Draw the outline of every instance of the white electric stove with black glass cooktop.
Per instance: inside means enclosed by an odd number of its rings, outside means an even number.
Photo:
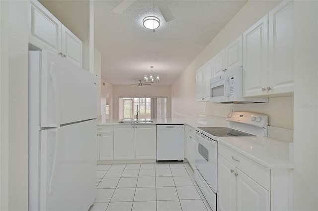
[[[221,136],[267,136],[267,115],[230,112],[229,127],[198,127],[196,130],[194,178],[211,209],[217,208],[218,142]]]

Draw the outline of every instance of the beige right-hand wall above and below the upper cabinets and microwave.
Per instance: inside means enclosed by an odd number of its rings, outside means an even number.
[[[196,102],[196,70],[274,8],[278,1],[248,1],[171,86],[172,117],[225,117],[230,109],[269,115],[269,125],[293,129],[293,97],[270,98],[268,104],[219,105]]]

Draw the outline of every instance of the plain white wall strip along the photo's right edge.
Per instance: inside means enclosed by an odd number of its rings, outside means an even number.
[[[318,210],[318,1],[295,1],[295,211]]]

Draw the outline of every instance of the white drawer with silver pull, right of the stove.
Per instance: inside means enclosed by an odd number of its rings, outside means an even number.
[[[218,142],[218,154],[270,191],[270,169]]]

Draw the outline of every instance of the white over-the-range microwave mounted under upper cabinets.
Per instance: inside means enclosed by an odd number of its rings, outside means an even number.
[[[268,103],[268,97],[243,97],[243,68],[225,71],[210,80],[210,103]]]

